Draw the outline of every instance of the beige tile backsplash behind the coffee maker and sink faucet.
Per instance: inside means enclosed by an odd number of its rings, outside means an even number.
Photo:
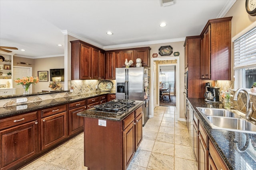
[[[226,81],[226,80],[217,80],[215,82],[215,86],[220,87],[220,92],[223,90],[223,92],[226,92],[228,89],[234,89],[234,81]],[[234,94],[234,91],[231,90],[231,94]],[[246,112],[246,95],[242,92],[238,95],[238,100],[234,101],[233,97],[231,98],[231,101],[234,104],[234,108],[238,109],[242,112]],[[250,102],[252,102],[252,117],[256,118],[256,96],[250,95]]]

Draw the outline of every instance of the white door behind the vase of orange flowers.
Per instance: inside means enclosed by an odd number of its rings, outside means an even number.
[[[32,76],[32,67],[24,67],[24,66],[13,66],[13,80],[17,80],[17,78],[30,77]],[[23,88],[21,85],[17,85],[17,83],[13,82],[13,88],[16,88],[16,94],[22,94]],[[30,93],[32,93],[32,86],[30,86]]]

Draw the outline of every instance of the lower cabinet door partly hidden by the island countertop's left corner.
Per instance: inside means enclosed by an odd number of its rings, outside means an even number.
[[[76,132],[82,131],[84,127],[84,117],[76,115],[77,113],[84,111],[86,106],[71,109],[68,112],[68,135],[72,135]]]

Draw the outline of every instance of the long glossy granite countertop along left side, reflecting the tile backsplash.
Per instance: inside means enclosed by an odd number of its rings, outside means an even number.
[[[12,116],[16,114],[26,113],[28,111],[35,111],[38,109],[43,109],[46,107],[52,107],[60,104],[67,104],[70,102],[76,102],[79,100],[85,100],[88,98],[104,95],[104,94],[115,94],[112,92],[91,92],[91,93],[84,93],[84,94],[78,94],[74,96],[66,96],[62,98],[54,98],[49,100],[41,100],[36,102],[30,102],[30,103],[23,103],[18,105],[11,105],[11,106],[3,106],[0,107],[0,118]]]

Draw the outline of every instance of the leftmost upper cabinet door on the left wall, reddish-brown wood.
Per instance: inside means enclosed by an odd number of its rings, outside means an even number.
[[[92,47],[80,44],[80,79],[92,79]]]

